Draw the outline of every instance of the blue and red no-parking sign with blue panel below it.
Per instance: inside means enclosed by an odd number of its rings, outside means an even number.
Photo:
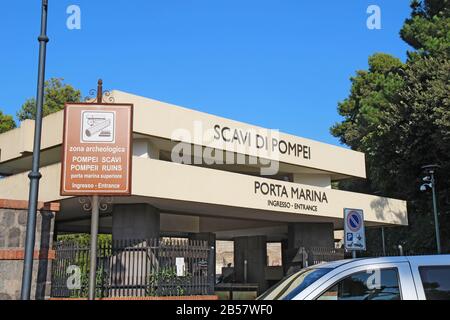
[[[344,209],[345,249],[349,251],[366,250],[364,212],[358,209]]]

